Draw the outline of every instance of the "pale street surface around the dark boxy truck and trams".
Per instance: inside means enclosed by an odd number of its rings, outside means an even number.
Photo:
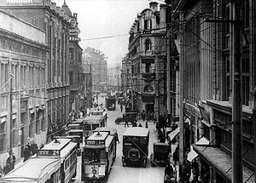
[[[103,103],[105,99],[103,97],[98,98],[98,103]],[[141,167],[123,167],[121,162],[121,156],[122,156],[122,134],[125,132],[125,124],[115,124],[114,120],[116,117],[121,117],[122,113],[120,111],[119,105],[117,105],[115,111],[109,111],[108,112],[108,127],[114,127],[118,130],[119,133],[119,141],[120,143],[117,144],[117,158],[116,161],[113,163],[113,167],[110,171],[108,182],[110,183],[157,183],[157,182],[164,182],[164,168],[161,167],[154,167],[152,168],[150,166],[150,159],[148,157],[148,163],[147,168],[141,168]],[[145,125],[142,123],[143,126]],[[131,127],[131,126],[130,126]],[[148,124],[149,128],[149,156],[152,152],[152,144],[157,141],[156,134],[155,134],[155,128],[153,123]],[[74,182],[81,182],[81,159],[78,158],[78,174],[77,177],[74,179]]]

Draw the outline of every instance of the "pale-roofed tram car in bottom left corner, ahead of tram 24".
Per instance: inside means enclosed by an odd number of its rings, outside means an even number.
[[[0,178],[1,183],[61,183],[61,160],[50,157],[31,157]]]

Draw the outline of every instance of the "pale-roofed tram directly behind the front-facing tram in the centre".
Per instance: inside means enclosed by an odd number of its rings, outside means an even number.
[[[91,114],[88,117],[85,117],[83,121],[83,133],[84,138],[87,139],[92,131],[99,127],[107,127],[107,117],[103,115],[94,115]]]

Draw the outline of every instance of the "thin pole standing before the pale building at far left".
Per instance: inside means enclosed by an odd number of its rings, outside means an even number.
[[[13,167],[13,77],[10,75],[9,81],[9,152],[10,152],[10,166]]]

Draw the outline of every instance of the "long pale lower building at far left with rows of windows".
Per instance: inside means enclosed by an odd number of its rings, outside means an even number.
[[[49,47],[45,31],[2,9],[0,22],[0,166],[3,168],[10,147],[18,160],[23,157],[28,138],[38,146],[46,140]]]

